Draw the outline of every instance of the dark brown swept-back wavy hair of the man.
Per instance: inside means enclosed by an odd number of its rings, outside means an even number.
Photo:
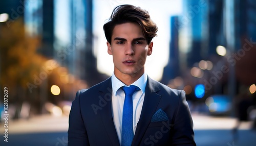
[[[150,14],[146,10],[143,10],[140,7],[135,7],[133,5],[120,5],[113,10],[109,18],[109,22],[105,23],[103,26],[106,40],[110,44],[115,26],[127,22],[134,22],[140,25],[146,38],[147,44],[149,44],[152,39],[157,36],[156,33],[158,28],[156,23],[151,20]]]

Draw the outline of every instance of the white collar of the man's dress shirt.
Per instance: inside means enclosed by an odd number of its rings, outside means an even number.
[[[119,79],[117,79],[114,72],[113,72],[112,77],[111,77],[111,82],[112,82],[112,89],[113,89],[113,92],[114,92],[115,96],[116,96],[117,90],[120,87],[126,86],[123,82],[121,82]],[[142,93],[144,94],[145,93],[146,82],[147,82],[147,75],[144,73],[137,81],[135,81],[131,85],[135,85],[135,86],[139,87],[140,90],[142,91]]]

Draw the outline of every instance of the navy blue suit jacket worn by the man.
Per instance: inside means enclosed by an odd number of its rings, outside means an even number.
[[[76,93],[69,116],[69,146],[120,145],[111,97],[111,78]],[[167,119],[152,121],[159,109],[166,113]],[[170,89],[148,77],[132,145],[196,145],[184,91]]]

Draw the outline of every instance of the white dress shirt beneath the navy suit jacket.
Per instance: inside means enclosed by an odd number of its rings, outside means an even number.
[[[122,83],[116,76],[112,75],[112,115],[114,124],[116,127],[117,136],[119,143],[121,144],[121,135],[122,135],[122,117],[123,117],[123,103],[125,94],[124,91],[120,88],[126,86]],[[137,123],[140,119],[140,114],[142,110],[142,105],[144,102],[145,96],[145,87],[147,82],[147,75],[144,73],[137,81],[131,85],[135,85],[140,88],[133,94],[133,131],[135,133],[137,128]]]

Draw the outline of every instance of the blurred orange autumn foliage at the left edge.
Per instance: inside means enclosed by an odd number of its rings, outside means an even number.
[[[26,35],[22,19],[13,22],[9,28],[0,23],[0,31],[0,83],[26,88],[26,83],[33,80],[33,75],[38,74],[40,66],[46,61],[45,57],[36,53],[40,39]]]

